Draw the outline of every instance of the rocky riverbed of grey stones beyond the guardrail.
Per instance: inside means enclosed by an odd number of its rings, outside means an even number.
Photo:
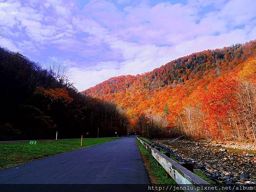
[[[225,148],[227,144],[188,140],[153,140],[183,163],[193,163],[209,179],[226,184],[256,184],[256,151]],[[239,146],[236,144],[236,146]],[[254,145],[248,145],[254,148]]]

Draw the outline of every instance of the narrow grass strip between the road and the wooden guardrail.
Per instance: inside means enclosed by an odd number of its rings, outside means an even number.
[[[157,160],[147,151],[147,149],[136,140],[140,153],[143,158],[143,162],[147,168],[148,174],[153,184],[176,184],[175,180],[166,177],[166,171],[162,166],[157,165]]]

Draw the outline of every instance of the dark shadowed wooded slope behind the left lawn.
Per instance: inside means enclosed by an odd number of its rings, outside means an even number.
[[[86,79],[86,77],[85,77]],[[129,121],[116,105],[83,96],[61,64],[49,70],[0,48],[0,140],[113,137]]]

